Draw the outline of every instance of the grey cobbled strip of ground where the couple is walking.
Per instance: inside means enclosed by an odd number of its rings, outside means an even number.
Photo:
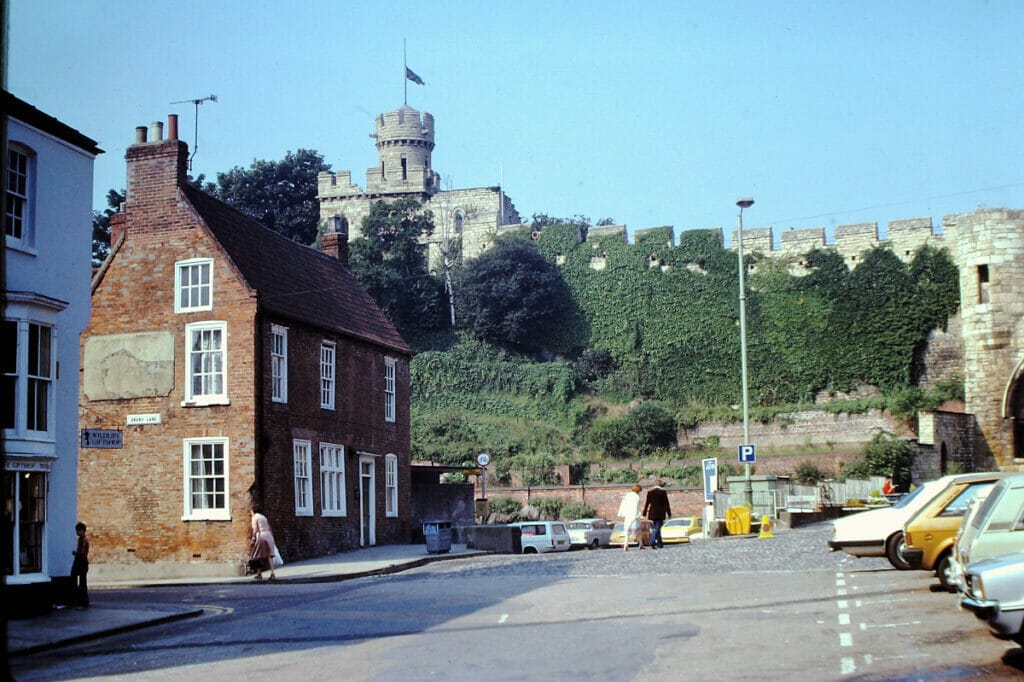
[[[772,538],[757,536],[695,540],[689,545],[628,552],[618,548],[572,550],[550,554],[494,554],[473,559],[438,561],[417,569],[431,578],[489,576],[678,576],[705,573],[773,572],[793,570],[866,570],[891,568],[885,558],[857,558],[829,552],[831,523],[778,530]]]

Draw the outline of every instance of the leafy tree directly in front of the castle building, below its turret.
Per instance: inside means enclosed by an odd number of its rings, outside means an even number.
[[[410,343],[443,325],[444,295],[419,241],[433,231],[433,215],[415,199],[379,202],[350,245],[352,273]]]

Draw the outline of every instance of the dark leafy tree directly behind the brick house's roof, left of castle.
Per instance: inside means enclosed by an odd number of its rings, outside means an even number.
[[[204,190],[227,202],[270,229],[301,244],[312,244],[319,224],[316,175],[330,170],[312,150],[289,152],[281,161],[253,161],[217,173],[217,183]],[[203,177],[194,184],[202,184]]]

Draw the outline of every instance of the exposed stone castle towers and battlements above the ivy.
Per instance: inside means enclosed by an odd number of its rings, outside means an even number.
[[[529,229],[521,224],[503,187],[440,186],[430,164],[434,148],[430,114],[408,105],[381,114],[372,136],[379,164],[367,170],[366,188],[353,184],[350,171],[319,175],[321,220],[329,229],[358,237],[362,217],[374,203],[414,198],[434,213],[437,230],[426,240],[431,263],[476,256],[500,233]],[[635,248],[649,249],[651,242],[644,237],[654,230],[669,236],[669,243],[658,248],[673,246],[671,228],[667,232],[653,228],[635,230]],[[721,228],[717,231],[722,242]],[[624,225],[594,227],[583,236],[588,237],[627,240]],[[733,231],[733,249],[736,238]],[[744,229],[742,238],[744,251],[785,259],[794,274],[802,272],[802,256],[814,249],[833,249],[853,268],[866,250],[877,246],[892,249],[904,261],[925,244],[944,248],[959,268],[961,309],[946,333],[937,331],[933,336],[950,347],[964,377],[974,463],[1024,471],[1024,210],[979,209],[947,215],[940,231],[931,218],[896,220],[889,223],[884,240],[878,223],[839,225],[831,243],[826,243],[820,227],[785,230],[778,240],[770,227]],[[651,267],[658,265],[654,251],[648,260]],[[591,259],[591,267],[601,269],[599,254]],[[922,441],[932,437],[930,429],[923,428],[922,434]],[[943,436],[937,432],[934,437]],[[945,442],[929,444],[946,447]]]

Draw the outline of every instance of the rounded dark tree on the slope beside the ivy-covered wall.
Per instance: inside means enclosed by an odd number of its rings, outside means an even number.
[[[561,273],[517,238],[500,239],[469,261],[456,293],[458,317],[473,336],[524,352],[558,343],[573,309]]]

